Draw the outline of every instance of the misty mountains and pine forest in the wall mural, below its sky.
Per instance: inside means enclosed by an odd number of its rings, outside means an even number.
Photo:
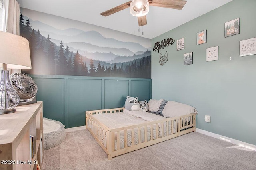
[[[32,69],[24,70],[27,74],[151,78],[151,51],[138,43],[104,38],[96,31],[74,28],[62,30],[66,35],[56,39],[50,34],[42,35],[40,28],[33,29],[31,23],[34,22],[27,17],[24,20],[20,14],[20,35],[30,42]],[[44,29],[60,31],[42,25]]]

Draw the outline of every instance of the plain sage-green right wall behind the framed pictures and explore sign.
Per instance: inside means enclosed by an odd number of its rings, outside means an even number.
[[[176,51],[175,42],[159,53],[152,50],[152,98],[192,105],[197,128],[256,145],[256,55],[239,57],[239,41],[256,37],[255,10],[256,0],[234,0],[152,39],[152,47],[165,38],[185,39],[185,49]],[[224,38],[224,23],[236,18],[240,34]],[[205,29],[207,43],[196,45],[196,33]],[[206,62],[206,48],[214,46],[219,59]],[[161,66],[159,55],[166,51]],[[184,65],[190,52],[193,64]]]

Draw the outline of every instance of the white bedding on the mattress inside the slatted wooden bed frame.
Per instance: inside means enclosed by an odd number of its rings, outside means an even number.
[[[141,123],[147,123],[150,121],[156,121],[156,120],[162,120],[167,119],[166,117],[162,117],[159,115],[155,115],[148,112],[143,111],[128,111],[126,109],[123,110],[123,113],[108,113],[108,114],[98,114],[98,115],[92,115],[97,120],[102,122],[104,125],[106,125],[108,128],[120,128],[125,127],[129,125],[137,125]],[[174,125],[175,125],[174,121]],[[102,142],[102,144],[106,148],[106,131],[92,128],[92,125],[88,125],[90,129],[93,130],[94,134],[97,133],[97,131],[100,133],[99,140]],[[158,125],[158,136],[159,138],[162,137],[162,126]],[[176,128],[173,126],[173,132],[176,133]],[[169,128],[169,134],[171,133],[171,122],[168,123]],[[144,139],[144,127],[141,127],[141,143],[145,141]],[[166,136],[166,123],[164,124],[164,136]],[[116,142],[116,134],[115,134],[115,150],[117,150],[117,142]],[[150,132],[150,126],[147,127],[147,141],[149,141],[151,138],[151,132]],[[156,125],[153,126],[153,139],[156,139]],[[138,128],[134,128],[134,145],[138,144]],[[127,130],[127,146],[132,146],[132,132],[131,130]],[[124,148],[124,131],[120,131],[120,149]]]

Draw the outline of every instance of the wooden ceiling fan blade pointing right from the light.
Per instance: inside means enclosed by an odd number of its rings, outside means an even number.
[[[186,4],[186,2],[186,0],[152,0],[152,2],[149,5],[181,10]]]

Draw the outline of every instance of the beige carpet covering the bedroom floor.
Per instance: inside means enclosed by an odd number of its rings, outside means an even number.
[[[88,130],[44,151],[42,170],[256,170],[256,152],[191,132],[108,160]]]

